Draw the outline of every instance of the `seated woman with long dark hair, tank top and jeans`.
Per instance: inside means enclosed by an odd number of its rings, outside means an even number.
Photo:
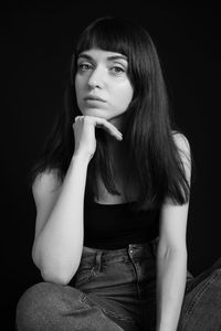
[[[21,297],[18,330],[220,330],[221,263],[187,271],[190,147],[146,30],[87,26],[65,100],[32,172],[44,281]]]

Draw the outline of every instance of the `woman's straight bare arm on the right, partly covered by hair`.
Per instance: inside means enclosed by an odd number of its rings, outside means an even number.
[[[177,135],[183,151],[186,175],[190,182],[189,143]],[[186,232],[189,203],[175,205],[167,199],[161,209],[157,252],[157,331],[176,331],[181,311],[187,276]]]

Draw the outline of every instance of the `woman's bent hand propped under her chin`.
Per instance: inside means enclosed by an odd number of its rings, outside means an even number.
[[[74,154],[86,154],[90,160],[96,150],[95,127],[103,128],[117,140],[122,140],[119,130],[104,118],[95,116],[77,116],[73,124],[75,150]]]

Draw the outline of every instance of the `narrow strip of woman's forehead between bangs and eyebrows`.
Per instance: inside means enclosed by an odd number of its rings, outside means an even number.
[[[91,49],[84,52],[81,52],[77,56],[78,58],[92,58],[92,60],[101,60],[101,61],[114,61],[114,60],[123,60],[127,61],[127,56],[118,52],[110,52],[101,49]]]

